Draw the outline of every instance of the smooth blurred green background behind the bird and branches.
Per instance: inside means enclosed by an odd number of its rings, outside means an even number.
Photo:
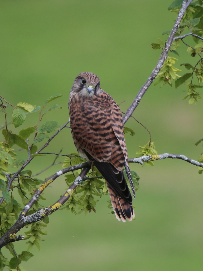
[[[171,2],[1,1],[1,95],[14,105],[42,106],[49,96],[61,93],[64,96],[56,102],[63,109],[50,112],[44,121],[58,120],[63,125],[69,118],[68,96],[75,77],[91,71],[118,104],[125,100],[120,107],[126,111],[161,53],[150,44],[156,43],[157,37],[165,40],[167,36],[161,33],[174,24],[176,14],[167,10]],[[181,49],[182,62],[176,67],[196,61],[190,59],[185,46]],[[159,154],[185,154],[197,160],[202,145],[195,147],[194,143],[203,135],[202,102],[188,105],[182,100],[183,90],[184,85],[178,89],[152,85],[133,115],[150,130]],[[37,120],[37,115],[28,115],[19,130]],[[134,137],[126,134],[129,158],[133,158],[149,135],[134,120],[127,126],[136,133]],[[14,131],[12,125],[9,128]],[[46,151],[59,152],[62,146],[64,154],[76,151],[69,129],[59,133]],[[20,155],[27,157],[25,152]],[[51,155],[38,157],[28,169],[37,173],[53,159]],[[134,200],[136,220],[122,223],[109,215],[108,196],[99,200],[96,213],[86,216],[57,211],[49,217],[41,250],[34,248],[35,256],[21,265],[27,271],[202,270],[202,176],[195,166],[181,160],[155,161],[154,165],[130,165],[140,176]],[[41,179],[60,169],[60,164],[52,167]],[[54,203],[65,189],[61,176],[46,189],[45,206]],[[27,248],[24,241],[15,246],[17,253]]]

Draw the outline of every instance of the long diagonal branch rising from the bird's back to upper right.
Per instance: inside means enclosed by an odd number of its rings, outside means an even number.
[[[149,88],[149,86],[151,85],[151,83],[154,81],[155,77],[157,76],[157,74],[159,73],[159,71],[161,70],[164,61],[167,57],[168,51],[171,47],[171,44],[174,40],[174,36],[176,31],[178,30],[179,24],[182,20],[182,17],[185,14],[185,11],[187,9],[187,7],[189,6],[189,4],[192,2],[193,0],[184,0],[182,2],[182,7],[178,13],[178,17],[175,21],[175,24],[172,28],[171,34],[168,37],[167,43],[165,45],[165,48],[161,54],[161,56],[159,57],[158,63],[156,65],[156,67],[154,68],[153,72],[151,73],[151,75],[149,76],[149,78],[147,79],[147,81],[145,82],[145,84],[141,87],[141,89],[139,90],[137,96],[135,97],[134,101],[132,102],[131,106],[128,108],[127,112],[125,113],[125,115],[123,116],[123,123],[125,124],[125,122],[129,119],[129,117],[132,115],[132,113],[134,112],[135,108],[138,106],[140,100],[142,99],[143,95],[145,94],[145,92],[147,91],[147,89]],[[187,4],[188,2],[188,4]]]

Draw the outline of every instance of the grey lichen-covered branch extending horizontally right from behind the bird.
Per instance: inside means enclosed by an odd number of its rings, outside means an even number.
[[[143,164],[143,162],[148,162],[148,161],[155,161],[155,160],[162,160],[162,159],[166,159],[166,158],[172,158],[172,159],[181,159],[184,160],[190,164],[193,164],[195,166],[198,167],[203,167],[203,163],[199,163],[198,161],[192,160],[188,157],[186,157],[183,154],[169,154],[169,153],[163,153],[163,154],[157,154],[157,155],[148,155],[148,156],[141,156],[138,158],[134,158],[134,159],[129,159],[128,161],[130,163],[139,163],[139,164]]]

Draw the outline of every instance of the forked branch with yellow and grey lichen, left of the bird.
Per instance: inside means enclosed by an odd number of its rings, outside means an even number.
[[[64,195],[61,196],[61,198],[56,201],[54,204],[52,204],[49,207],[43,208],[34,214],[27,215],[26,213],[30,209],[30,207],[35,203],[35,201],[39,198],[39,195],[44,191],[44,189],[54,181],[58,176],[67,173],[72,170],[81,169],[83,168],[80,175],[75,179],[75,181],[72,183],[72,185],[68,188],[68,190],[64,193]],[[4,247],[6,244],[10,242],[15,242],[22,240],[24,236],[22,235],[16,235],[16,233],[25,227],[28,224],[32,224],[34,222],[42,220],[47,215],[52,214],[56,210],[58,210],[68,199],[69,197],[74,193],[75,189],[81,184],[82,180],[85,179],[86,174],[90,170],[91,165],[90,163],[86,162],[83,164],[67,167],[66,169],[60,170],[56,172],[54,175],[52,175],[48,180],[46,180],[35,192],[32,199],[28,202],[28,204],[25,206],[25,208],[22,210],[21,214],[19,215],[18,219],[16,220],[15,224],[0,238],[0,249]]]

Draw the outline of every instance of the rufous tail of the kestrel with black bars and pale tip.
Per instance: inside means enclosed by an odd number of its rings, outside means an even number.
[[[111,199],[111,204],[116,215],[118,221],[125,222],[126,219],[131,221],[133,217],[135,217],[134,210],[132,206],[126,202],[124,199],[119,198],[119,196],[113,191],[113,189],[109,186],[108,182],[106,181],[107,189],[109,192],[109,196]]]

